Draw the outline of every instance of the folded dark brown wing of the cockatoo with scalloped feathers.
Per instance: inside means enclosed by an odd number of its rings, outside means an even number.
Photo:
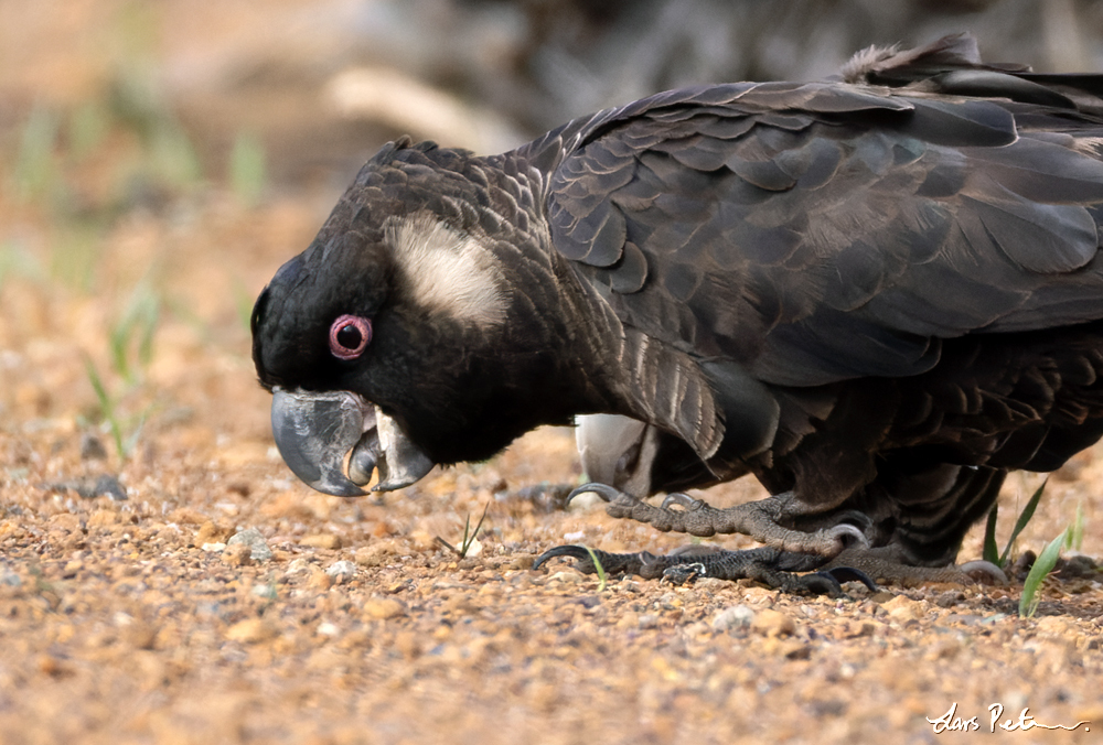
[[[942,95],[932,74],[596,116],[550,177],[553,245],[628,326],[773,385],[915,375],[942,339],[1103,318],[1103,122],[1068,91],[1103,83],[989,71]]]

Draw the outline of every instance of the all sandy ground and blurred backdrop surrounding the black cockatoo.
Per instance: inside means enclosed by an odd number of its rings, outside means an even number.
[[[1062,617],[1038,636],[1016,589],[940,585],[891,626],[750,586],[599,602],[603,580],[522,570],[686,537],[526,492],[581,477],[569,430],[330,497],[279,458],[250,359],[257,293],[387,140],[496,152],[957,31],[989,61],[1103,72],[1089,0],[0,0],[0,742],[934,742],[919,717],[951,701],[1103,719],[1093,581],[1047,585],[1039,615]],[[1052,474],[1018,539],[1043,477],[1007,479],[1009,561],[1070,525],[1103,555],[1101,453]],[[270,559],[224,544],[245,527]],[[788,607],[799,639],[713,630],[745,601]]]

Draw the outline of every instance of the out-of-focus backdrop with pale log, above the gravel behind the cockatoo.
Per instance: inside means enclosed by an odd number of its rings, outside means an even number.
[[[1094,0],[3,0],[6,196],[58,220],[335,195],[400,133],[499,151],[695,83],[811,79],[970,31],[985,58],[1103,66]]]

